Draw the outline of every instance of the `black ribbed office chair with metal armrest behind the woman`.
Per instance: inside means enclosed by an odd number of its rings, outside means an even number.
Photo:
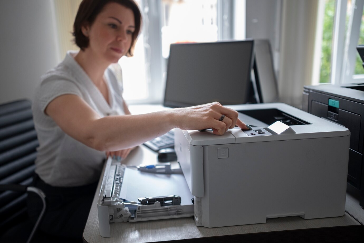
[[[36,193],[43,201],[43,209],[27,242],[32,240],[46,209],[44,193],[30,186],[38,145],[31,102],[23,99],[0,105],[0,236],[29,220],[27,192]],[[20,231],[17,233],[27,232],[24,228]]]

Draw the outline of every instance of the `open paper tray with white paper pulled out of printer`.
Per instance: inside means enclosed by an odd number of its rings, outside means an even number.
[[[141,172],[134,168],[126,168],[124,172],[120,197],[126,202],[115,205],[104,205],[105,188],[110,186],[110,166],[113,160],[109,158],[106,162],[105,172],[100,188],[98,199],[99,229],[102,237],[110,237],[110,220],[114,217],[114,209],[118,208],[120,215],[122,207],[136,210],[134,217],[119,218],[119,222],[137,222],[146,220],[157,220],[177,217],[194,216],[193,198],[186,179],[182,174],[153,174]],[[159,202],[152,205],[141,205],[138,197],[156,197],[179,195],[181,205],[161,206]],[[116,202],[116,201],[114,201]]]

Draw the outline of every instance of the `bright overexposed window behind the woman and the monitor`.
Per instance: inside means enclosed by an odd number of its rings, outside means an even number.
[[[143,15],[142,33],[134,56],[123,57],[124,99],[128,104],[161,103],[166,78],[169,46],[178,42],[214,42],[233,39],[241,26],[233,24],[234,4],[241,0],[136,0]],[[244,1],[245,3],[245,1]],[[244,23],[245,24],[245,23]],[[245,31],[244,28],[240,28]],[[245,36],[235,34],[234,36]]]

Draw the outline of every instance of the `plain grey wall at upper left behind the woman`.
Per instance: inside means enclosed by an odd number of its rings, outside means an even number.
[[[33,98],[40,76],[58,63],[53,1],[0,1],[0,103]]]

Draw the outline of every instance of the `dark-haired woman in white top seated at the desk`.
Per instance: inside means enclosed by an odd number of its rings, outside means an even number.
[[[111,64],[132,56],[140,29],[134,1],[83,0],[74,23],[80,51],[67,52],[42,77],[33,118],[40,143],[34,183],[47,195],[43,231],[82,237],[107,155],[126,157],[173,128],[213,128],[214,134],[235,125],[248,129],[237,111],[219,103],[130,115]],[[29,208],[36,217],[36,199],[29,197]]]

